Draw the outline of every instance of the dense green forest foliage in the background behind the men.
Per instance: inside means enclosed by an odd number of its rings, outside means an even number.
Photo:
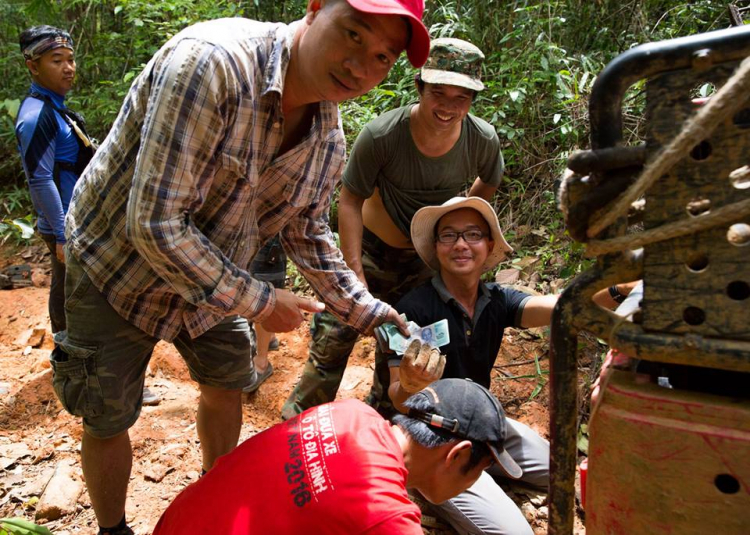
[[[289,22],[305,0],[33,0],[0,3],[0,186],[22,186],[13,118],[28,87],[17,46],[33,24],[67,28],[77,43],[78,80],[69,96],[89,130],[102,139],[133,78],[153,53],[187,25],[245,16]],[[587,100],[597,74],[639,43],[725,27],[716,0],[427,0],[425,23],[434,37],[458,37],[487,57],[472,112],[497,129],[506,160],[495,197],[501,224],[517,251],[542,257],[546,278],[573,275],[586,261],[564,233],[554,201],[555,179],[567,156],[588,142]],[[415,70],[402,58],[369,94],[341,105],[347,141],[374,117],[417,99]],[[625,99],[625,138],[639,139],[642,84]],[[698,95],[713,90],[697,88]],[[335,203],[333,215],[335,216]],[[335,223],[335,217],[332,222]],[[7,224],[7,223],[6,223]],[[515,229],[529,227],[544,236]],[[564,262],[560,265],[559,262]]]

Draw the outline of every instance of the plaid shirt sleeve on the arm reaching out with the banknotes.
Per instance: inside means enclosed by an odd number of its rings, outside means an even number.
[[[290,221],[282,232],[282,241],[300,272],[326,303],[327,310],[354,329],[366,332],[383,321],[390,306],[375,299],[349,269],[328,226],[331,196],[341,176],[344,158],[339,162],[336,169],[331,169],[331,176],[337,179],[326,182],[326,191],[320,195],[322,201]]]

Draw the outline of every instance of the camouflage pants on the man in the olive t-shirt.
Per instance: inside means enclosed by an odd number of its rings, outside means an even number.
[[[415,250],[390,247],[367,229],[362,236],[362,265],[370,293],[391,305],[433,274]],[[328,312],[315,314],[310,334],[310,356],[281,410],[284,419],[336,398],[358,337],[357,331]],[[376,377],[373,389],[379,390],[380,384],[387,384],[387,378]]]

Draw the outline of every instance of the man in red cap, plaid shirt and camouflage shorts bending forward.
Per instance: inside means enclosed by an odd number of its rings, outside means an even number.
[[[135,79],[76,187],[66,222],[67,332],[55,390],[83,418],[100,534],[129,535],[128,429],[154,345],[200,385],[203,469],[237,443],[253,381],[249,322],[294,329],[323,304],[274,290],[250,263],[270,237],[359,331],[399,321],[344,263],[327,224],[344,165],[337,102],[380,83],[402,51],[421,65],[422,0],[309,0],[290,25],[196,24]],[[262,462],[262,459],[260,460]]]

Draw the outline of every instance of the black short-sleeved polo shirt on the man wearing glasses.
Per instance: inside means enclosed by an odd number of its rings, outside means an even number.
[[[505,328],[520,326],[531,296],[496,283],[480,282],[478,292],[473,319],[448,292],[440,275],[410,291],[395,308],[422,327],[447,319],[451,341],[440,348],[446,356],[443,378],[468,378],[489,388]],[[398,355],[389,355],[388,363],[398,366],[400,360]]]

